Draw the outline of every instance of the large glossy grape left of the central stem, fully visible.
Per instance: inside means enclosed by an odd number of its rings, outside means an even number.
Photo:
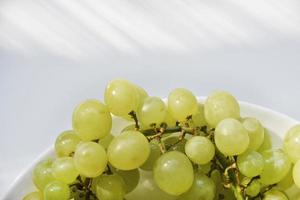
[[[139,131],[123,132],[112,140],[107,149],[109,162],[121,170],[140,167],[149,154],[149,142]]]

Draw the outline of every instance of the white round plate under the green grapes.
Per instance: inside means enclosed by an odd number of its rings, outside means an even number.
[[[292,119],[284,114],[275,112],[273,110],[246,103],[246,102],[240,102],[241,107],[241,115],[242,116],[251,116],[255,117],[258,120],[262,122],[262,124],[270,131],[273,138],[273,144],[274,146],[279,146],[282,143],[282,138],[284,137],[284,134],[286,131],[293,125],[298,124],[299,122],[295,119]],[[116,133],[119,132],[119,130],[128,124],[128,122],[125,122],[124,120],[120,120],[118,118],[113,118],[113,128],[112,132]],[[37,162],[40,160],[43,160],[47,157],[53,157],[54,151],[53,147],[46,150],[44,153],[42,153],[39,158],[33,162],[11,185],[10,190],[8,193],[4,196],[4,200],[17,200],[22,199],[25,194],[27,194],[30,191],[34,191],[34,186],[31,180],[31,172],[33,170],[33,167]],[[299,190],[297,192],[294,192],[295,190],[289,191],[290,199],[296,200],[299,196]]]

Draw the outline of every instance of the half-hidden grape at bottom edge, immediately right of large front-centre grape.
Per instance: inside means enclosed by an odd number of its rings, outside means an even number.
[[[184,194],[180,195],[178,200],[213,200],[215,198],[216,186],[214,181],[204,174],[195,174],[192,187]]]

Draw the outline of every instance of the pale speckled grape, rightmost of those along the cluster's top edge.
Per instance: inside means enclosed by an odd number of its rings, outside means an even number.
[[[205,120],[211,127],[216,127],[226,118],[240,118],[240,106],[229,93],[217,91],[208,96],[204,103]]]

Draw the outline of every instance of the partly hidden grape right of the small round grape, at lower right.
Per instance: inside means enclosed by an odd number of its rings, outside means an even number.
[[[265,165],[260,174],[261,182],[264,185],[280,182],[291,168],[291,162],[286,154],[280,149],[275,149],[262,152],[262,156]]]

